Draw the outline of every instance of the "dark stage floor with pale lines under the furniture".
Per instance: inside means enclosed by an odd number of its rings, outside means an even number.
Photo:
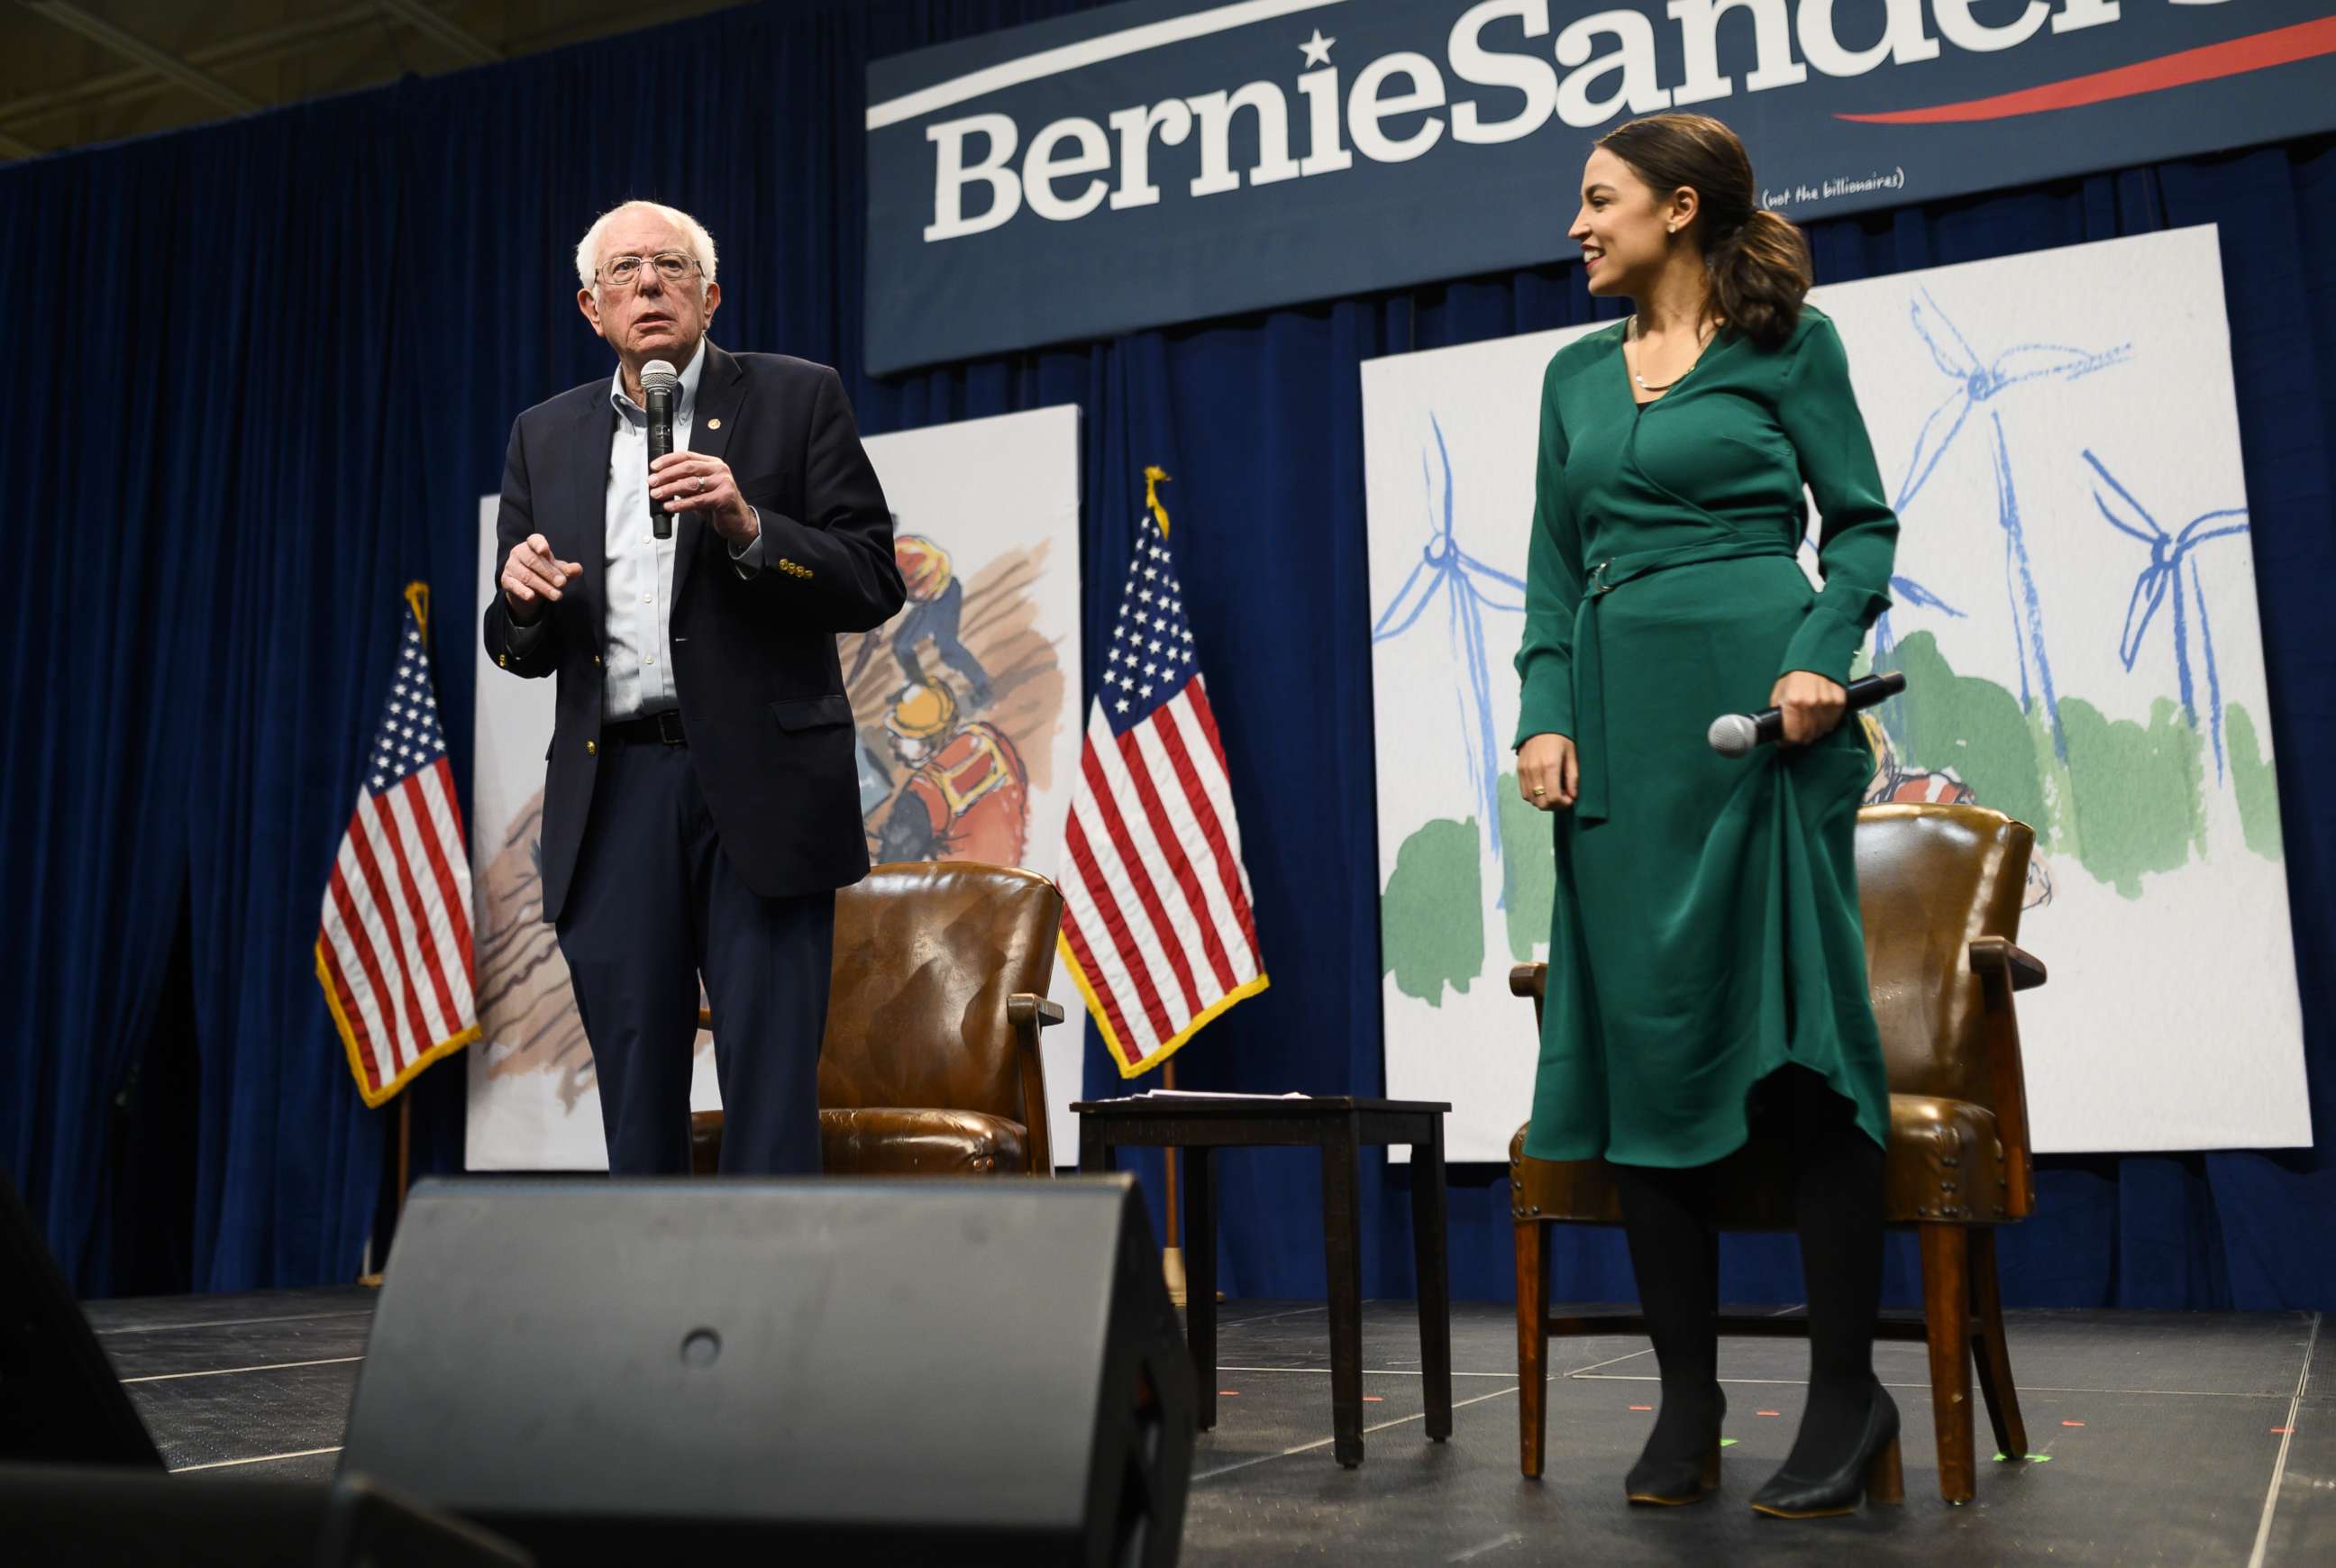
[[[93,1302],[89,1318],[173,1470],[332,1475],[371,1292]],[[1918,1344],[1876,1348],[1906,1416],[1906,1505],[1787,1524],[1747,1507],[1801,1414],[1806,1348],[1731,1339],[1726,1482],[1631,1510],[1652,1418],[1642,1339],[1558,1339],[1549,1475],[1516,1472],[1507,1306],[1453,1313],[1453,1437],[1420,1432],[1409,1302],[1364,1316],[1367,1461],[1329,1456],[1325,1311],[1222,1311],[1217,1430],[1194,1458],[1187,1563],[2336,1563],[2336,1334],[2317,1313],[2011,1313],[2011,1367],[2042,1463],[1983,1463],[1939,1503]],[[1981,1451],[1988,1446],[1979,1416]]]

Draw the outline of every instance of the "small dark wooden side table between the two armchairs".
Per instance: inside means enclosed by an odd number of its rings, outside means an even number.
[[[1079,1171],[1114,1171],[1117,1150],[1180,1147],[1184,1161],[1184,1339],[1201,1383],[1201,1430],[1217,1425],[1217,1150],[1322,1150],[1322,1257],[1329,1269],[1332,1453],[1362,1463],[1364,1145],[1411,1145],[1411,1248],[1420,1281],[1420,1381],[1427,1437],[1453,1430],[1451,1267],[1444,1229],[1444,1112],[1437,1101],[1159,1096],[1082,1101]]]

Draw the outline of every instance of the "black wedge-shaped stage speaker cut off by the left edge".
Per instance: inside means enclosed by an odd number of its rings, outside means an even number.
[[[161,1470],[72,1288],[0,1175],[0,1461]]]

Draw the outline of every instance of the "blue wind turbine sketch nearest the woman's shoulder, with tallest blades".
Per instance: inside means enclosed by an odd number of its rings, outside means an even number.
[[[2004,591],[2011,596],[2011,622],[2016,626],[2014,647],[2021,664],[2021,706],[2035,713],[2042,694],[2044,715],[2051,722],[2053,755],[2067,759],[2067,736],[2060,729],[2060,694],[2053,689],[2051,652],[2044,640],[2044,605],[2037,596],[2035,568],[2028,561],[2028,528],[2021,521],[2018,488],[2011,479],[2011,442],[2004,435],[2002,409],[1995,400],[2014,386],[2028,381],[2077,381],[2095,369],[2121,365],[2133,355],[2133,344],[2086,351],[2067,344],[2014,344],[1993,360],[1983,360],[1969,339],[1955,327],[1930,290],[1920,290],[1906,306],[1916,337],[1930,348],[1932,362],[1955,381],[1923,430],[1913,439],[1906,458],[1906,479],[1899,484],[1894,509],[1899,516],[1923,493],[1939,460],[1953,449],[1955,437],[1972,421],[1972,414],[1988,404],[1986,428],[1995,435],[1995,521],[2004,530]],[[1892,587],[1897,587],[1892,582]]]

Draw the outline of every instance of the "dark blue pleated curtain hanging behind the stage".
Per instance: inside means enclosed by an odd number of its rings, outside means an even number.
[[[350,1091],[318,998],[318,895],[409,577],[437,589],[439,706],[467,788],[477,498],[521,407],[607,374],[575,315],[572,248],[626,196],[684,206],[719,238],[722,344],[843,367],[871,432],[1077,402],[1093,654],[1142,467],[1175,474],[1175,547],[1273,974],[1180,1056],[1182,1082],[1381,1089],[1357,367],[1612,306],[1551,257],[871,383],[857,372],[867,61],[1068,9],[1082,7],[769,5],[0,168],[0,297],[19,311],[0,500],[42,519],[19,523],[7,589],[0,1157],[84,1290],[110,1278],[107,1105],[152,1024],[182,900],[203,1056],[192,1283],[355,1269],[385,1112]],[[1565,164],[1581,152],[1551,143]],[[2320,1143],[2044,1161],[2042,1213],[2004,1239],[2021,1304],[2336,1306],[2317,1241],[2336,1210],[2336,804],[2310,783],[2336,750],[2320,608],[2336,582],[2331,175],[2336,150],[2313,140],[1813,229],[1820,278],[1850,280],[2222,224]],[[1089,689],[1093,675],[1091,661]],[[1514,1038],[1467,1045],[1532,1052],[1528,1012]],[[1096,1049],[1089,1089],[1121,1089]],[[460,1066],[423,1075],[420,1168],[460,1164]],[[1224,1288],[1320,1295],[1310,1161],[1222,1164]],[[1409,1173],[1371,1159],[1364,1182],[1367,1290],[1406,1295]],[[1455,1292],[1507,1297],[1507,1173],[1455,1171],[1451,1203]],[[1558,1269],[1567,1297],[1631,1295],[1619,1236],[1563,1236]],[[1892,1253],[1892,1297],[1913,1299],[1913,1281]],[[1799,1299],[1789,1241],[1731,1241],[1726,1290]]]

